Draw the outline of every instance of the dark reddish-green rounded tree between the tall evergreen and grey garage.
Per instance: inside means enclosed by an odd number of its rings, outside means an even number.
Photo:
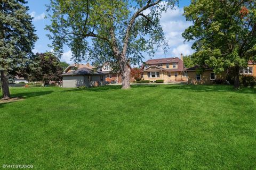
[[[30,71],[30,81],[43,81],[44,85],[49,84],[50,81],[60,81],[63,69],[60,65],[58,57],[55,57],[52,53],[37,53],[34,58],[36,67]]]

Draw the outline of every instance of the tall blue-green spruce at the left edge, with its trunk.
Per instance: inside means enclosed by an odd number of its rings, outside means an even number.
[[[37,40],[24,0],[0,1],[0,73],[3,99],[10,98],[8,74],[22,67],[33,55]]]

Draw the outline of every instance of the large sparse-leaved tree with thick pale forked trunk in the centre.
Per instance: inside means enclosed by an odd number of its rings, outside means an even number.
[[[139,64],[141,52],[154,55],[154,46],[167,43],[159,22],[162,12],[177,0],[51,0],[52,24],[46,29],[54,52],[67,44],[75,61],[86,59],[118,63],[122,88],[130,88],[130,64]]]

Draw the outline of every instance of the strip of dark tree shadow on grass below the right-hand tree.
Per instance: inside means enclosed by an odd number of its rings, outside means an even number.
[[[173,85],[173,86],[166,87],[166,89],[187,90],[187,91],[193,91],[193,92],[220,91],[220,92],[237,92],[241,94],[256,94],[255,88],[241,88],[239,90],[236,90],[233,88],[233,86],[227,86],[227,85],[184,85],[184,86]]]

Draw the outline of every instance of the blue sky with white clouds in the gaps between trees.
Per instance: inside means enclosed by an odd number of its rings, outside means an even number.
[[[29,6],[29,14],[34,17],[33,24],[36,27],[36,34],[38,36],[38,40],[35,44],[34,53],[43,53],[46,51],[51,51],[51,48],[47,45],[51,43],[49,38],[46,36],[49,32],[44,30],[45,25],[51,24],[49,19],[44,19],[44,16],[47,15],[46,12],[46,4],[49,4],[49,0],[27,0]],[[179,57],[180,53],[184,55],[189,55],[193,53],[191,50],[191,43],[183,43],[183,38],[181,33],[191,24],[187,22],[185,18],[182,16],[183,7],[188,6],[190,4],[189,0],[181,0],[179,3],[179,7],[176,6],[175,10],[168,10],[166,13],[163,13],[161,24],[165,33],[166,40],[169,44],[169,51],[164,56],[163,50],[158,49],[155,58],[163,58],[163,57]],[[73,61],[70,61],[71,51],[68,47],[64,48],[64,54],[61,57],[61,61],[66,61],[71,64]],[[149,59],[149,56],[145,56],[145,61]]]

